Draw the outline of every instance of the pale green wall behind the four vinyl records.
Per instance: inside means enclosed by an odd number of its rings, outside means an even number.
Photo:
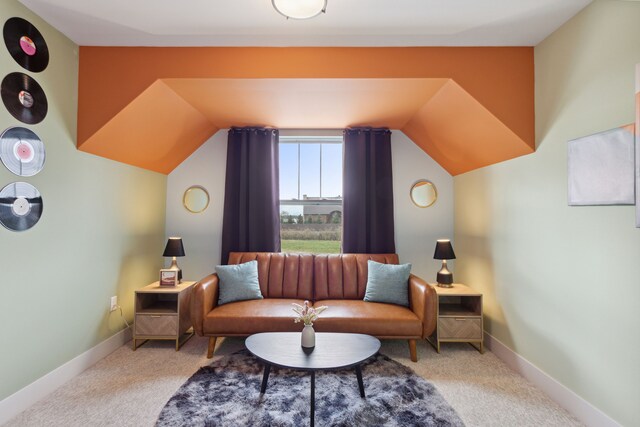
[[[162,265],[166,198],[165,176],[76,150],[78,47],[17,1],[0,2],[2,24],[12,16],[36,25],[51,59],[30,73],[0,44],[1,77],[31,75],[49,103],[33,126],[0,105],[0,130],[30,128],[47,150],[34,177],[0,165],[0,187],[26,181],[44,200],[34,228],[0,226],[0,400],[122,330],[119,314],[108,313],[112,295],[132,319],[133,290]]]

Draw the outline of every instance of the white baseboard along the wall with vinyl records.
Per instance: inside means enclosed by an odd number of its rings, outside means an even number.
[[[6,423],[58,387],[107,357],[131,339],[131,329],[125,328],[110,338],[71,359],[59,368],[38,378],[28,386],[0,401],[0,425]]]

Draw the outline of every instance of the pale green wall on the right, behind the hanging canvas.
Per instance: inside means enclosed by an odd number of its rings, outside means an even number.
[[[486,327],[623,425],[640,425],[633,206],[567,206],[567,140],[634,120],[640,3],[596,1],[535,48],[534,154],[455,178],[456,277]]]

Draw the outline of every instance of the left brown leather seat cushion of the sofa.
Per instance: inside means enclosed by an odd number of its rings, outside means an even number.
[[[259,332],[300,332],[303,325],[294,323],[292,303],[304,300],[268,298],[224,304],[204,318],[207,335],[251,335]]]

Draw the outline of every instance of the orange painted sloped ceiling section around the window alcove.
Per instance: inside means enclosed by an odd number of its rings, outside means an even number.
[[[533,85],[528,47],[81,47],[78,148],[169,173],[229,126],[386,126],[456,175],[533,152]]]

